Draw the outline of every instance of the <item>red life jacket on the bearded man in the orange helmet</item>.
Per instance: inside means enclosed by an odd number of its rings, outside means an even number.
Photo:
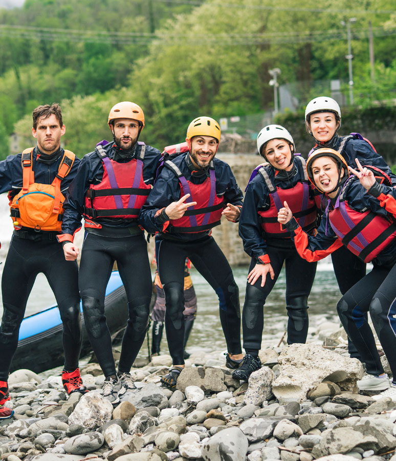
[[[103,178],[86,191],[84,214],[89,219],[101,217],[136,219],[151,190],[143,181],[144,143],[137,159],[119,163],[110,159],[99,144],[95,152],[103,163]]]

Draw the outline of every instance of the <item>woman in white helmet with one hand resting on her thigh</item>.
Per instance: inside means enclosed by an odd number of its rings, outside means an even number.
[[[277,222],[283,202],[291,201],[301,227],[316,229],[315,192],[305,171],[305,161],[295,156],[294,141],[280,125],[265,126],[257,136],[257,149],[266,162],[256,168],[246,188],[239,218],[239,235],[251,256],[243,309],[246,355],[233,377],[248,380],[260,368],[258,352],[263,329],[263,305],[285,263],[288,343],[304,343],[308,331],[307,298],[316,263],[302,259],[288,232]]]

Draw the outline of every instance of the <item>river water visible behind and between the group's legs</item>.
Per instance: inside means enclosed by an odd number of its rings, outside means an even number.
[[[0,273],[3,271],[4,261],[7,254],[9,240],[12,234],[12,223],[9,217],[9,209],[5,194],[0,196]],[[246,278],[248,267],[236,267],[233,270],[235,280],[239,287],[241,308],[244,304]],[[191,278],[197,295],[198,311],[196,320],[188,341],[188,349],[209,345],[210,349],[222,349],[225,341],[221,324],[218,318],[218,300],[214,291],[205,279],[194,269],[191,269]],[[276,346],[286,329],[287,314],[285,310],[285,274],[282,270],[279,279],[267,299],[264,308],[264,331],[262,335],[262,347]],[[319,262],[312,293],[309,299],[310,305],[310,331],[325,320],[338,321],[336,304],[340,298],[337,282],[328,259]],[[39,274],[30,295],[26,315],[30,315],[48,308],[55,304],[55,298],[51,292],[46,278]],[[3,305],[0,301],[0,315]],[[163,342],[162,350],[166,351]]]

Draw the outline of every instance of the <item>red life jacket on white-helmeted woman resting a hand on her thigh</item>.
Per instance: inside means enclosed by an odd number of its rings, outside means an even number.
[[[257,210],[260,215],[261,228],[269,237],[290,238],[287,229],[278,223],[278,211],[283,208],[285,201],[305,232],[309,233],[316,227],[317,205],[313,188],[305,171],[305,160],[302,157],[295,157],[295,159],[298,162],[300,177],[304,179],[298,181],[290,189],[281,189],[273,184],[266,169],[267,165],[258,170],[270,191],[270,208]]]

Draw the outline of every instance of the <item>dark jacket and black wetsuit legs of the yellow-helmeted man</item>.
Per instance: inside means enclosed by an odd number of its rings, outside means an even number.
[[[203,171],[194,172],[189,153],[176,157],[172,162],[177,165],[184,178],[195,186],[197,194],[193,194],[192,198],[196,201],[200,187],[208,179],[207,174]],[[214,171],[216,196],[224,196],[224,206],[227,203],[240,206],[243,194],[229,165],[214,159]],[[165,328],[173,364],[184,364],[183,291],[184,262],[187,257],[218,296],[220,320],[229,354],[240,354],[239,292],[231,267],[213,237],[209,235],[210,230],[178,232],[177,227],[172,228],[169,225],[164,209],[180,197],[181,187],[177,175],[170,168],[164,167],[141,209],[139,218],[139,222],[148,232],[159,232],[157,264],[165,292]]]

